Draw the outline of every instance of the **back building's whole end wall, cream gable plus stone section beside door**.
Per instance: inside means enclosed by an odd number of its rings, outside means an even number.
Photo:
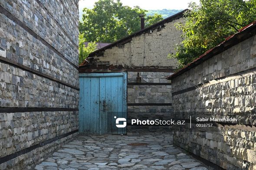
[[[165,78],[177,68],[177,61],[167,55],[181,42],[181,31],[174,24],[184,22],[183,13],[91,53],[79,67],[79,73],[128,73],[128,135],[170,132],[170,126],[131,126],[131,119],[170,119],[171,82]],[[136,83],[138,73],[141,83]]]

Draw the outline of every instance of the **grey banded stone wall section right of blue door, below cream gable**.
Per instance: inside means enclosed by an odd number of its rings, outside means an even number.
[[[127,103],[128,103],[128,133],[170,132],[170,126],[134,126],[129,125],[131,119],[169,120],[171,112],[171,81],[165,78],[167,72],[139,72],[141,82],[136,83],[138,72],[128,72]],[[168,84],[168,85],[167,85]],[[137,104],[138,106],[131,106]],[[159,104],[154,106],[151,104]],[[167,104],[168,106],[164,106]],[[161,106],[162,105],[162,106]]]

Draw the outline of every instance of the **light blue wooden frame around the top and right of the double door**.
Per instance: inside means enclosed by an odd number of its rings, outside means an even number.
[[[123,77],[124,83],[123,83],[123,112],[125,112],[126,119],[127,119],[127,72],[115,72],[115,73],[79,73],[79,79],[82,77]],[[81,88],[81,87],[80,87]],[[83,88],[83,87],[82,87]],[[79,93],[79,97],[81,99],[81,93]],[[80,102],[80,101],[79,101]],[[79,109],[80,109],[80,103],[79,103]],[[112,118],[114,119],[114,118]],[[79,124],[81,123],[81,118],[79,115]],[[101,120],[100,120],[101,121]],[[127,127],[125,127],[125,132],[127,132]]]

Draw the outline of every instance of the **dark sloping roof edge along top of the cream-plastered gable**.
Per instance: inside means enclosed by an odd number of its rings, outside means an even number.
[[[146,32],[146,31],[148,31],[148,30],[150,30],[150,29],[156,28],[157,26],[159,26],[159,25],[161,25],[161,24],[164,24],[164,23],[167,23],[167,22],[171,22],[171,21],[173,21],[174,19],[179,19],[179,18],[181,18],[181,17],[183,16],[184,12],[187,11],[187,10],[188,10],[188,9],[183,10],[183,11],[181,11],[181,12],[179,12],[179,13],[176,13],[176,14],[174,14],[173,16],[169,16],[168,18],[163,19],[163,20],[161,20],[160,22],[157,22],[157,23],[153,24],[152,26],[150,26],[150,27],[148,27],[148,28],[141,29],[140,31],[135,32],[134,34],[128,35],[127,37],[122,38],[122,39],[120,39],[120,40],[118,40],[118,41],[116,41],[116,42],[113,42],[113,43],[110,44],[110,45],[107,45],[107,46],[105,46],[105,47],[103,47],[103,48],[100,48],[100,49],[98,49],[98,50],[96,50],[96,51],[93,51],[92,53],[89,54],[88,57],[93,57],[95,54],[97,54],[97,53],[100,52],[100,51],[104,51],[104,50],[107,49],[107,48],[112,48],[113,46],[118,45],[119,43],[124,42],[125,40],[127,40],[127,39],[129,39],[129,38],[132,38],[132,37],[134,37],[134,36],[136,36],[136,35],[140,35],[140,34],[142,34],[143,32]],[[80,64],[79,66],[83,66],[83,65],[85,65],[86,63],[87,63],[86,61],[83,61],[82,64]]]

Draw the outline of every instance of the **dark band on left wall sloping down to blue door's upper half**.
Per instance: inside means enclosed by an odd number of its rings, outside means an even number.
[[[30,67],[24,66],[24,65],[22,65],[22,64],[20,64],[20,63],[17,63],[16,61],[12,61],[12,60],[10,60],[10,59],[8,59],[8,58],[4,58],[4,57],[0,56],[0,62],[5,63],[5,64],[12,65],[13,67],[20,68],[20,69],[22,69],[22,70],[24,70],[24,71],[29,71],[29,72],[32,73],[32,74],[36,74],[36,75],[38,75],[38,76],[40,76],[40,77],[47,78],[47,79],[49,79],[49,80],[55,81],[55,82],[57,82],[57,83],[60,83],[60,84],[62,84],[62,85],[64,85],[64,86],[70,87],[70,88],[72,88],[72,89],[79,90],[78,87],[72,86],[72,85],[70,85],[70,84],[68,84],[68,83],[65,83],[64,81],[58,80],[58,79],[56,79],[55,77],[52,77],[52,76],[49,76],[49,75],[47,75],[47,74],[43,74],[43,73],[41,73],[41,72],[39,72],[39,71],[33,70],[33,69],[30,68]]]

